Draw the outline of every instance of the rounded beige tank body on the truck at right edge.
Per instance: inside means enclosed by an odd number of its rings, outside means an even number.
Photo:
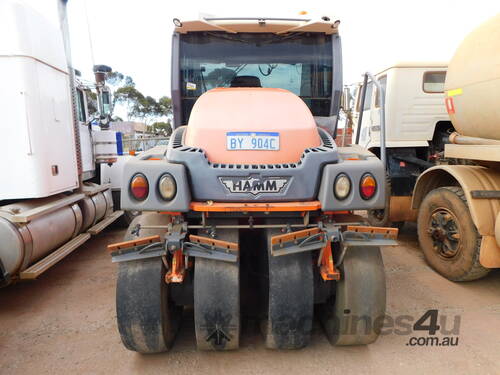
[[[450,61],[446,108],[462,135],[500,140],[500,14],[469,34]]]

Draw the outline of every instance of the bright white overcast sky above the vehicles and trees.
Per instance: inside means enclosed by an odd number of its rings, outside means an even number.
[[[23,1],[57,22],[58,0]],[[93,63],[106,64],[132,76],[144,95],[170,96],[173,18],[301,11],[341,21],[344,84],[350,84],[398,61],[448,61],[470,31],[500,12],[500,1],[69,0],[73,65],[92,79]]]

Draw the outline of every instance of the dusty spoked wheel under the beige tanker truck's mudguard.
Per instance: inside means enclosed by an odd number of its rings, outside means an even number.
[[[456,186],[432,190],[418,213],[418,240],[427,263],[452,281],[476,280],[489,269],[479,263],[481,236],[464,192]]]

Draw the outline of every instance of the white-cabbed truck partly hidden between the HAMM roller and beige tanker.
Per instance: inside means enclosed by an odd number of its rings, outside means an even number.
[[[411,196],[418,176],[436,164],[449,163],[443,151],[454,128],[444,105],[446,70],[446,63],[400,62],[375,75],[385,90],[389,188],[386,209],[368,212],[372,225],[415,221]],[[353,143],[376,155],[380,155],[379,95],[372,82],[356,84],[351,109]]]

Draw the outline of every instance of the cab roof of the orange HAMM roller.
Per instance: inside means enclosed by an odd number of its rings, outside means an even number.
[[[335,34],[340,21],[329,17],[266,18],[266,17],[201,17],[194,21],[174,18],[175,32],[185,34],[193,31],[224,31],[227,33],[274,33],[317,32]]]

